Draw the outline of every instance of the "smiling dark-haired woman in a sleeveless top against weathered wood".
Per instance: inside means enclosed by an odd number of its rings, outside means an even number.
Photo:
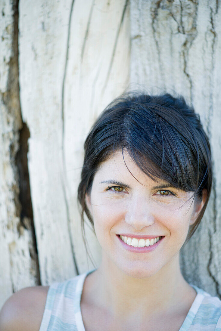
[[[212,185],[193,108],[181,96],[125,94],[96,120],[84,150],[78,201],[101,264],[15,293],[1,330],[221,330],[221,301],[188,284],[179,264]]]

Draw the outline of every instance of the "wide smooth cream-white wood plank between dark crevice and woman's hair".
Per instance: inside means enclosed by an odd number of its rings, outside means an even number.
[[[20,100],[30,130],[28,170],[43,285],[88,269],[77,210],[83,142],[128,83],[127,5],[19,2]],[[100,247],[89,228],[87,240],[98,263]]]

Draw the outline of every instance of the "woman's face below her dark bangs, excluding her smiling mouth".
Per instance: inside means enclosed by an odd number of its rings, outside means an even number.
[[[163,180],[153,181],[124,151],[117,151],[101,163],[86,196],[94,229],[103,253],[124,273],[135,278],[154,275],[178,255],[200,212],[200,205],[184,203],[193,193],[174,189]],[[165,187],[166,184],[166,187]],[[109,188],[111,187],[112,188]],[[158,186],[158,188],[154,188]],[[119,239],[120,234],[160,237],[154,250],[131,252]],[[154,246],[154,245],[153,245]]]

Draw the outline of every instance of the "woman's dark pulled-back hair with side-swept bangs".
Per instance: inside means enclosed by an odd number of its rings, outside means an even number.
[[[169,93],[145,95],[132,91],[122,94],[104,109],[84,143],[78,187],[84,244],[84,212],[94,231],[85,194],[91,192],[100,163],[110,158],[114,151],[122,150],[123,153],[123,149],[151,179],[164,179],[172,187],[193,192],[193,201],[200,201],[202,190],[207,190],[205,204],[190,226],[186,238],[186,242],[189,241],[201,221],[211,192],[208,137],[199,115],[186,104],[183,96],[175,98]]]

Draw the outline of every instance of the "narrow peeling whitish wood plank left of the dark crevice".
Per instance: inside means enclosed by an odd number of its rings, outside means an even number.
[[[16,3],[0,3],[0,307],[13,292],[37,281],[30,219],[21,218],[19,199],[24,125],[19,103],[17,14]]]

